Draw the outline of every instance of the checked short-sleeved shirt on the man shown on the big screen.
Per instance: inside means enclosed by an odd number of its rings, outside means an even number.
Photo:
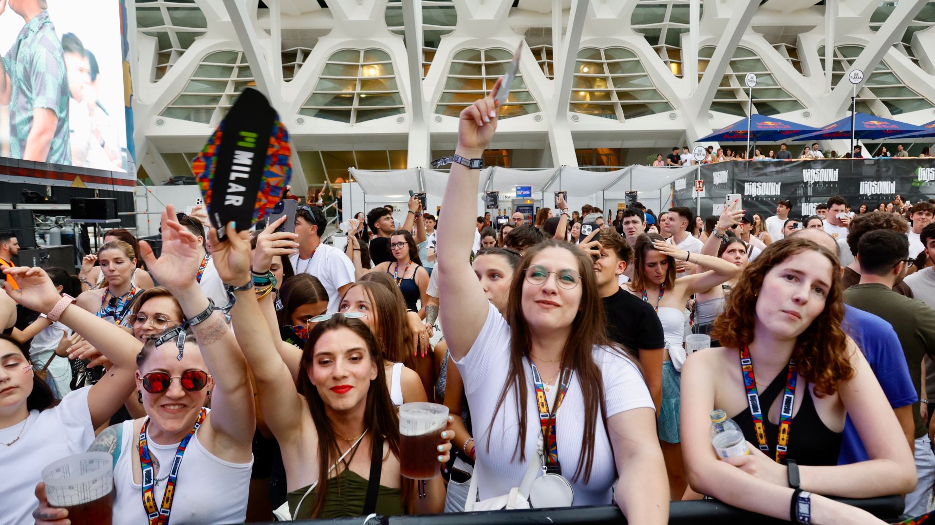
[[[26,23],[3,57],[12,84],[9,100],[9,153],[22,158],[33,128],[33,110],[51,109],[58,118],[45,162],[71,164],[68,141],[68,76],[62,42],[55,35],[49,11]],[[36,159],[33,159],[36,160]]]

